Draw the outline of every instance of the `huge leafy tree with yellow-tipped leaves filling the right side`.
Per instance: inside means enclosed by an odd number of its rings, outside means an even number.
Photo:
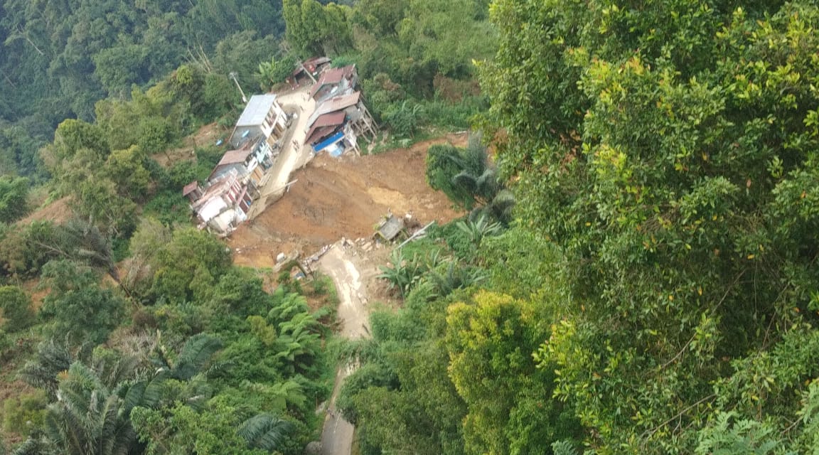
[[[491,17],[500,166],[569,277],[537,358],[586,444],[814,450],[819,9],[498,0]]]

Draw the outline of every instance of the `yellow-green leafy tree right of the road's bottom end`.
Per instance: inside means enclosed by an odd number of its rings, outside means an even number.
[[[572,438],[580,426],[550,399],[554,373],[538,371],[531,355],[546,335],[534,305],[491,292],[473,300],[451,305],[446,318],[448,371],[468,408],[467,452],[542,453]]]

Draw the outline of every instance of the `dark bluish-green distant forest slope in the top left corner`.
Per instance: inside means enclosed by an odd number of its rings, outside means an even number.
[[[249,87],[283,31],[281,4],[263,0],[0,2],[0,173],[38,172],[35,152],[63,119],[102,119],[97,100],[183,61]]]

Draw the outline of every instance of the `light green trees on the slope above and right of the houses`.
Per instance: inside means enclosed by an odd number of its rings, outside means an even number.
[[[305,45],[298,43],[324,39],[320,43],[330,55],[342,52],[339,64],[355,63],[368,109],[397,137],[412,137],[423,127],[464,129],[471,116],[486,109],[472,64],[495,50],[486,2],[360,0],[352,8],[330,4],[323,15],[296,14],[317,8],[314,0],[286,1],[287,36],[304,35],[292,38],[292,44],[301,48]],[[343,27],[336,19],[342,13]],[[310,34],[303,27],[315,24],[320,16],[328,16],[325,21],[339,30],[333,38],[307,38]]]

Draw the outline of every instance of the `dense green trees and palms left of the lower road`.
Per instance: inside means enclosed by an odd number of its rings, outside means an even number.
[[[41,391],[2,411],[5,431],[29,437],[16,453],[301,454],[330,390],[328,312],[265,292],[196,229],[146,220],[133,248],[156,273],[124,277],[129,295],[94,268],[45,264],[38,322],[25,292],[0,287],[4,340],[24,342],[32,323],[47,340],[20,370]],[[327,291],[317,283],[305,289]]]

